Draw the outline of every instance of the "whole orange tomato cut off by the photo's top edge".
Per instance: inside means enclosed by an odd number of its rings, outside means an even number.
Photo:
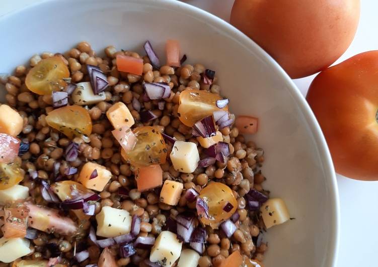
[[[359,9],[359,0],[235,0],[231,24],[291,78],[300,78],[328,67],[345,52]]]

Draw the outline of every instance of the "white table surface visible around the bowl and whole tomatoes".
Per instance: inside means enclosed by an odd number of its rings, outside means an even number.
[[[0,16],[40,0],[0,0]],[[229,21],[234,0],[187,0],[186,3],[204,9]],[[361,18],[354,41],[341,62],[355,54],[378,49],[377,0],[361,0]],[[315,75],[294,80],[306,94]],[[340,194],[341,231],[337,267],[378,266],[378,181],[361,182],[337,176]],[[300,266],[295,266],[300,267]]]

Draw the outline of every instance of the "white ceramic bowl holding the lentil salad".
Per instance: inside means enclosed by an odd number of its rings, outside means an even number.
[[[338,192],[320,127],[286,73],[240,31],[169,0],[43,1],[1,17],[0,29],[0,73],[35,53],[64,52],[83,40],[96,51],[115,45],[141,53],[150,40],[163,60],[166,39],[180,40],[188,62],[216,71],[233,112],[260,119],[252,139],[265,150],[264,187],[283,198],[295,218],[269,229],[266,266],[335,265]]]

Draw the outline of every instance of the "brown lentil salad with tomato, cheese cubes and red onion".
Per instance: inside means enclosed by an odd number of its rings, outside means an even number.
[[[0,79],[0,251],[24,247],[4,266],[262,266],[263,231],[289,217],[242,135],[258,120],[177,41],[166,65],[144,48],[81,42]]]

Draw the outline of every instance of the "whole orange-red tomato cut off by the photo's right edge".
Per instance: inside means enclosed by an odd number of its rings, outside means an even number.
[[[353,179],[378,180],[378,50],[322,71],[307,100],[336,171]]]

